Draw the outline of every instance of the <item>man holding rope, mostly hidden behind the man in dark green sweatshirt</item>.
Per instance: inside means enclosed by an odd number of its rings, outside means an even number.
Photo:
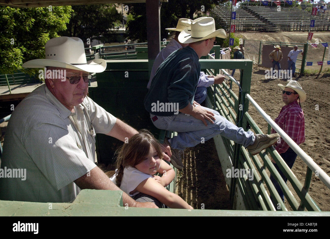
[[[205,17],[201,17],[205,18]],[[199,18],[199,19],[201,19]],[[188,44],[180,43],[178,40],[180,32],[183,29],[190,26],[192,20],[187,18],[180,18],[176,28],[166,28],[166,30],[176,31],[175,37],[171,39],[170,43],[166,45],[157,55],[155,62],[153,63],[152,70],[150,73],[150,79],[147,85],[147,88],[150,89],[151,80],[155,76],[156,71],[161,63],[165,61],[165,59],[173,52],[182,47],[187,46]],[[206,75],[204,72],[200,72],[197,89],[195,92],[195,101],[201,104],[206,99],[206,87],[209,87],[213,84],[218,84],[218,82],[223,81],[224,76],[218,74],[214,75]]]

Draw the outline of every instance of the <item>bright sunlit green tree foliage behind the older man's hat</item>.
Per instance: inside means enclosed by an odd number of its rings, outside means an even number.
[[[23,70],[25,61],[45,58],[45,44],[66,29],[70,6],[11,8],[0,6],[0,74]],[[34,69],[23,70],[29,74]]]

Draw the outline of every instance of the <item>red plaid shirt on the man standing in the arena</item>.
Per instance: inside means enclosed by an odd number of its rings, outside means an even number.
[[[299,145],[305,142],[304,112],[297,101],[283,106],[280,115],[275,119],[275,123],[280,126],[296,144]],[[275,134],[277,132],[272,129],[271,133]],[[289,147],[290,146],[281,138],[281,143],[278,143],[275,149],[281,154],[285,153]]]

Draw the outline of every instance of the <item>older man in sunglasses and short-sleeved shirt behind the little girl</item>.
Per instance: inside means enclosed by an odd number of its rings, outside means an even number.
[[[124,141],[138,133],[86,96],[88,75],[106,69],[103,59],[86,61],[80,38],[57,37],[45,46],[46,59],[23,67],[47,67],[46,84],[12,113],[1,168],[26,169],[26,180],[0,178],[1,200],[69,202],[81,189],[120,190],[95,165],[95,134]],[[130,206],[155,207],[134,201]]]

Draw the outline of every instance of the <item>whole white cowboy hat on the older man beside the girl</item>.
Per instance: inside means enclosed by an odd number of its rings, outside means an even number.
[[[46,59],[25,62],[25,68],[61,67],[91,73],[103,72],[107,63],[104,59],[86,60],[83,42],[78,37],[56,37],[45,45]]]

